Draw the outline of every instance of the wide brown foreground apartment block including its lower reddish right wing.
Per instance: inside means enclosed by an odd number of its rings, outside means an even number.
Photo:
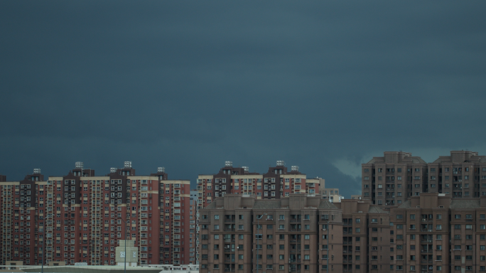
[[[389,272],[389,213],[369,200],[228,194],[199,213],[202,273]]]

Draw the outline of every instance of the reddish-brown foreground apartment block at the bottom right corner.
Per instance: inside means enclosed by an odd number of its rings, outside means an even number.
[[[486,197],[421,193],[391,218],[393,272],[486,271]]]

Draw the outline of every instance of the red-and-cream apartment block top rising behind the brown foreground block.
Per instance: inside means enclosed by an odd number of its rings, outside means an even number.
[[[233,167],[232,161],[226,161],[218,173],[198,176],[198,208],[205,208],[215,198],[229,193],[275,199],[291,193],[314,194],[323,190],[324,179],[307,178],[298,169],[298,166],[291,166],[288,171],[284,161],[277,161],[276,166],[260,174],[249,172],[246,166]]]

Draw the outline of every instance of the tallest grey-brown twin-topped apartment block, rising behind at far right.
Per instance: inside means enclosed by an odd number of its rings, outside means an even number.
[[[363,199],[392,208],[421,193],[453,198],[486,195],[486,156],[451,151],[450,156],[426,163],[411,153],[385,151],[384,156],[362,164]]]

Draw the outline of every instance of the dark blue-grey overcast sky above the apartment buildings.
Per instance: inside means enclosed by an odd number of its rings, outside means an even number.
[[[0,1],[0,173],[486,154],[485,1]]]

